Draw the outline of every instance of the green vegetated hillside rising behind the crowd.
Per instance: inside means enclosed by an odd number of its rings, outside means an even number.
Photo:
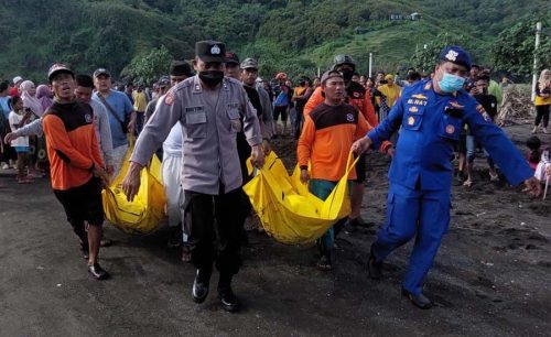
[[[203,39],[258,57],[263,76],[323,70],[337,53],[354,56],[363,72],[372,53],[375,69],[393,70],[408,66],[439,33],[465,41],[477,62],[490,64],[499,32],[550,9],[548,0],[2,1],[0,75],[43,80],[53,62],[119,74],[162,45],[175,58],[192,58],[195,41]],[[413,12],[422,18],[390,20]]]

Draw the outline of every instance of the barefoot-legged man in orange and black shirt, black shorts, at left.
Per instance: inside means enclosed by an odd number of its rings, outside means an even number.
[[[104,222],[101,188],[108,177],[96,140],[94,111],[75,99],[75,74],[67,66],[54,64],[47,77],[55,94],[43,117],[52,188],[80,239],[88,272],[104,280],[109,274],[97,260]]]

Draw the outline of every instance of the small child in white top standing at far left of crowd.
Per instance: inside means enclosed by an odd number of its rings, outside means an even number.
[[[30,109],[23,109],[23,100],[21,99],[21,97],[12,97],[11,112],[8,117],[11,131],[14,132],[19,128],[28,123],[31,116],[32,111]],[[32,180],[29,177],[28,172],[25,171],[25,165],[29,157],[29,137],[20,137],[17,140],[11,141],[11,145],[18,153],[18,183],[32,183]]]

